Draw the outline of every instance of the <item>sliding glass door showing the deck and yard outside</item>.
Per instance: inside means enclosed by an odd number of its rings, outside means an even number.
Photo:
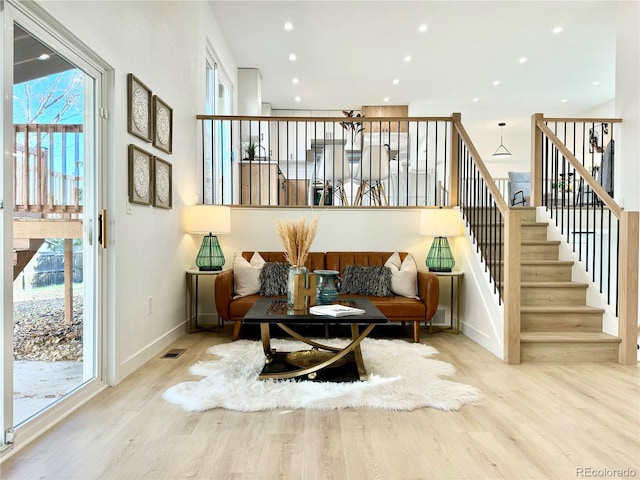
[[[12,43],[12,81],[3,85],[12,98],[11,125],[3,128],[9,148],[2,173],[12,188],[3,182],[3,216],[11,219],[3,217],[2,252],[13,288],[3,291],[5,443],[50,422],[85,387],[101,383],[95,213],[101,75],[82,55],[57,47],[61,42],[40,24],[9,13],[12,35],[6,23],[3,30]]]

